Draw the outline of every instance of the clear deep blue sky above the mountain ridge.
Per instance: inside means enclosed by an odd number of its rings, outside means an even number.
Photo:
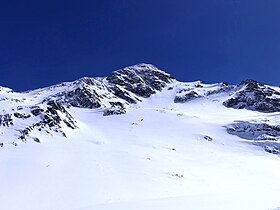
[[[0,85],[152,63],[178,80],[279,85],[279,0],[17,0],[0,5]]]

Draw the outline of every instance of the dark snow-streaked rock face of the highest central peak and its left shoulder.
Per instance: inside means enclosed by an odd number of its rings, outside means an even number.
[[[138,64],[114,71],[107,78],[81,78],[65,84],[68,88],[46,100],[57,100],[65,106],[79,108],[110,108],[108,102],[135,104],[139,97],[149,97],[160,91],[173,77],[150,64]]]

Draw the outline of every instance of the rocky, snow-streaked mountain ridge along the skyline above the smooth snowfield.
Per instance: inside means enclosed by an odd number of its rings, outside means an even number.
[[[179,82],[156,66],[141,63],[113,71],[108,77],[83,77],[23,93],[0,87],[0,137],[5,139],[10,131],[14,134],[9,141],[0,141],[0,147],[29,139],[40,142],[38,133],[66,137],[69,129],[77,128],[70,107],[98,109],[104,116],[120,115],[130,108],[140,107],[140,104],[133,104],[160,91],[160,97],[170,97],[170,105],[175,107],[178,103],[193,101],[195,104],[195,100],[201,100],[223,103],[235,109],[280,111],[280,89],[277,87],[254,80],[245,80],[238,85]],[[270,135],[260,135],[263,134]],[[275,134],[277,140],[278,134]]]

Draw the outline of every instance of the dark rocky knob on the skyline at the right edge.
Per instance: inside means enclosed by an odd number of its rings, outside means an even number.
[[[280,93],[278,91],[253,80],[243,81],[237,88],[239,90],[233,97],[223,103],[226,107],[260,112],[280,111]]]

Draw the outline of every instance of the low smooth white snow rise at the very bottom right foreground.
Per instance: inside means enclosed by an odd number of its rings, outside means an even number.
[[[121,202],[94,205],[76,210],[276,210],[280,209],[277,195],[269,199],[263,193],[195,195],[162,198],[138,202]],[[276,207],[276,208],[275,208]]]

